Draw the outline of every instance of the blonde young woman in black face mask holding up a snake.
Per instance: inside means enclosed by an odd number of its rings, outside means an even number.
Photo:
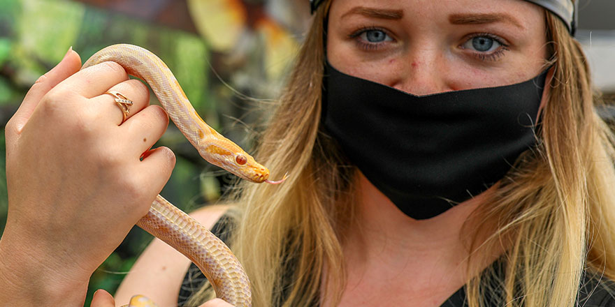
[[[615,152],[571,35],[572,4],[312,1],[312,28],[256,155],[291,177],[280,186],[242,184],[232,205],[194,213],[229,239],[252,281],[254,306],[615,304],[607,281],[615,276]],[[140,86],[113,64],[77,69],[68,54],[7,129],[12,211],[0,272],[6,280],[6,268],[21,265],[11,275],[19,280],[10,288],[15,301],[24,289],[55,302],[82,297],[89,274],[147,210],[173,164],[166,149],[144,163],[127,159],[147,144],[134,149],[117,140],[143,138],[130,121],[158,127],[152,138],[164,130],[164,114],[145,107]],[[94,82],[96,74],[115,79]],[[112,131],[103,123],[85,132],[53,123],[68,118],[79,126],[74,113],[94,108],[80,100],[107,107],[102,93],[110,87],[144,101],[143,110]],[[67,99],[70,107],[60,107]],[[111,144],[105,137],[115,133],[113,151],[71,156],[36,133],[46,121],[75,133],[71,144]],[[90,137],[97,134],[102,141]],[[55,155],[38,162],[27,151],[35,145]],[[102,177],[61,168],[66,161]],[[141,189],[126,172],[154,164],[150,172],[161,173],[147,179],[154,188]],[[39,189],[45,193],[29,193]],[[143,200],[138,208],[107,212],[127,207],[132,194]],[[100,207],[78,207],[78,200]],[[68,212],[77,208],[80,215]],[[103,226],[105,236],[96,228]],[[28,255],[45,255],[45,265]],[[187,306],[203,304],[212,290],[186,291],[188,267],[154,241],[115,299],[125,304],[139,293],[174,306],[182,290],[192,296]],[[113,302],[101,294],[95,304]]]

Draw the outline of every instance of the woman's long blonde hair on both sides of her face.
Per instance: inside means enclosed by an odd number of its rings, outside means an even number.
[[[291,177],[280,186],[240,184],[233,200],[231,248],[252,282],[253,306],[311,306],[329,294],[335,303],[345,285],[341,246],[356,214],[356,168],[320,130],[330,2],[314,16],[256,154],[273,177],[286,171]],[[497,268],[470,268],[470,307],[484,306],[492,291],[502,293],[490,297],[502,306],[572,306],[586,266],[615,278],[613,137],[594,110],[579,43],[551,13],[547,27],[554,77],[539,144],[523,153],[465,224],[475,234],[468,242],[474,263],[505,248],[503,280]],[[323,279],[325,266],[340,269]],[[212,295],[203,287],[191,302]]]

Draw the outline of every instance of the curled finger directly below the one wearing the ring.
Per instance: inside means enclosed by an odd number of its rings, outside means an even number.
[[[134,114],[122,123],[122,135],[128,138],[129,144],[134,144],[133,154],[140,156],[154,146],[168,126],[168,115],[161,107],[150,105],[143,111]]]

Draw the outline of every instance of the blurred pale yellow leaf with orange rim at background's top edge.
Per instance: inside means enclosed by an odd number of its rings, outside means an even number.
[[[241,0],[188,0],[192,20],[216,52],[229,52],[238,44],[247,23]]]

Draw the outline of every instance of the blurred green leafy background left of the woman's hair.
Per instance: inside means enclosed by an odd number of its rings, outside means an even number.
[[[306,2],[0,0],[0,232],[8,207],[4,126],[68,47],[82,61],[115,43],[151,50],[173,70],[201,117],[249,149],[267,119],[262,106],[283,87],[305,31]],[[153,94],[151,103],[157,103]],[[178,158],[161,194],[184,211],[216,202],[235,180],[202,160],[172,123],[161,145]],[[130,232],[94,272],[86,306],[94,290],[115,291],[151,239],[138,227]]]

